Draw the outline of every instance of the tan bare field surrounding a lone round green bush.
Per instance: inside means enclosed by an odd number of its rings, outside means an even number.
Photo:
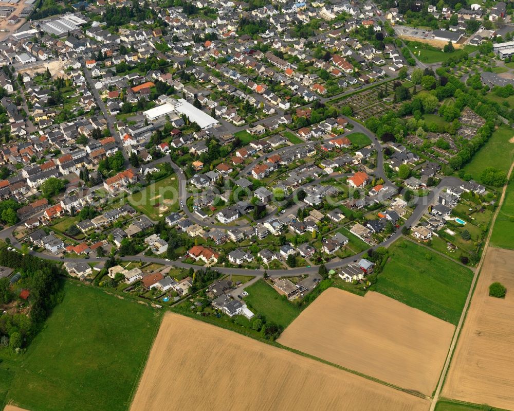
[[[487,255],[443,387],[443,396],[514,409],[514,251]],[[500,281],[505,298],[489,297]]]

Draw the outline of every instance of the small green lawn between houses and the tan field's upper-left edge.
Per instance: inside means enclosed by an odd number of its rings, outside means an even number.
[[[248,295],[244,298],[248,307],[266,318],[266,321],[286,328],[292,320],[300,314],[300,309],[288,300],[284,300],[276,290],[264,280],[259,280],[250,285],[245,291]]]

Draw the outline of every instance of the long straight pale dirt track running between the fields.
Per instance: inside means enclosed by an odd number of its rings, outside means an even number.
[[[511,166],[510,166],[509,172],[507,174],[507,181],[510,180],[510,177],[512,175],[512,170],[513,169],[514,169],[514,163],[512,163]],[[485,260],[486,255],[487,255],[487,251],[488,251],[488,248],[489,248],[489,241],[491,239],[492,229],[494,227],[494,222],[496,221],[496,218],[498,217],[498,213],[500,212],[500,209],[502,208],[502,204],[503,204],[503,202],[505,200],[505,194],[506,193],[507,193],[507,185],[505,185],[503,187],[502,195],[500,197],[500,202],[498,204],[498,208],[494,212],[494,216],[493,216],[492,221],[491,221],[491,226],[489,228],[489,233],[487,234],[487,239],[486,239],[485,244],[484,244],[484,251],[482,253],[482,258],[480,259],[480,262],[479,262],[478,266],[475,269],[475,273],[473,275],[473,280],[471,281],[471,287],[469,289],[469,293],[468,293],[468,296],[466,298],[466,302],[464,303],[464,309],[462,310],[461,318],[458,321],[457,329],[455,331],[455,334],[453,336],[453,339],[452,339],[452,342],[451,342],[451,345],[450,345],[450,351],[448,352],[448,356],[446,358],[446,362],[445,362],[445,365],[443,367],[443,372],[441,373],[441,376],[439,378],[439,382],[437,383],[437,388],[435,389],[434,397],[432,398],[432,403],[430,404],[430,411],[434,411],[435,410],[435,406],[437,405],[437,400],[439,399],[440,392],[441,392],[441,390],[443,388],[443,384],[445,382],[446,374],[448,373],[448,368],[450,366],[450,361],[452,359],[452,355],[453,355],[453,352],[455,350],[455,346],[457,345],[457,339],[460,337],[460,332],[461,332],[463,324],[464,324],[464,319],[466,318],[466,313],[468,311],[468,307],[469,307],[470,302],[471,302],[471,296],[473,295],[473,291],[474,291],[474,288],[475,288],[476,280],[479,277],[479,273],[482,270],[482,266],[484,264],[484,260]],[[462,344],[465,344],[465,343],[466,343],[466,335],[463,334],[462,339],[460,340],[460,344],[462,345]],[[514,349],[514,344],[512,345],[512,348]],[[512,386],[510,387],[510,391],[511,392],[513,391],[512,390]]]

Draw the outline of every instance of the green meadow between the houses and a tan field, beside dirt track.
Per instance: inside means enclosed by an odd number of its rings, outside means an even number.
[[[473,273],[429,248],[400,240],[370,288],[408,306],[457,324]]]

